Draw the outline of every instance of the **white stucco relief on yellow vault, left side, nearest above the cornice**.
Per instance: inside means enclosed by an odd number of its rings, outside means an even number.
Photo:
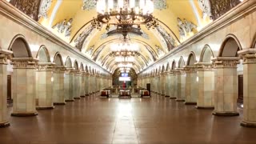
[[[65,34],[65,37],[70,37],[71,34],[71,24],[73,22],[73,18],[70,18],[69,21],[66,22],[66,19],[62,22],[58,22],[53,29],[57,28],[58,33]]]

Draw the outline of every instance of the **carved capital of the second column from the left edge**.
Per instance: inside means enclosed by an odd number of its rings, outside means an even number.
[[[36,69],[38,66],[37,58],[12,58],[11,63],[14,65],[13,69]]]

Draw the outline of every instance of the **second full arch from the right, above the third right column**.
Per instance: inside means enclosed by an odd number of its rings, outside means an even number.
[[[201,51],[199,62],[211,62],[211,58],[214,58],[214,52],[209,45],[205,45]]]

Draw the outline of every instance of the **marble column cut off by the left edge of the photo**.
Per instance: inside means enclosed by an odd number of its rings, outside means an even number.
[[[0,49],[0,127],[10,126],[7,120],[7,56],[10,50]]]

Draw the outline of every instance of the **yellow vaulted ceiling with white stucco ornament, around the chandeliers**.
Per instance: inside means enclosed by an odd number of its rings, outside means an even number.
[[[145,69],[239,2],[154,0],[153,15],[159,20],[158,28],[134,27],[133,33],[128,34],[140,47],[134,70],[138,73]],[[102,30],[92,28],[90,21],[97,16],[96,0],[10,0],[10,3],[110,72],[118,68],[110,55],[110,45],[122,34],[114,26],[109,31],[104,26]]]

